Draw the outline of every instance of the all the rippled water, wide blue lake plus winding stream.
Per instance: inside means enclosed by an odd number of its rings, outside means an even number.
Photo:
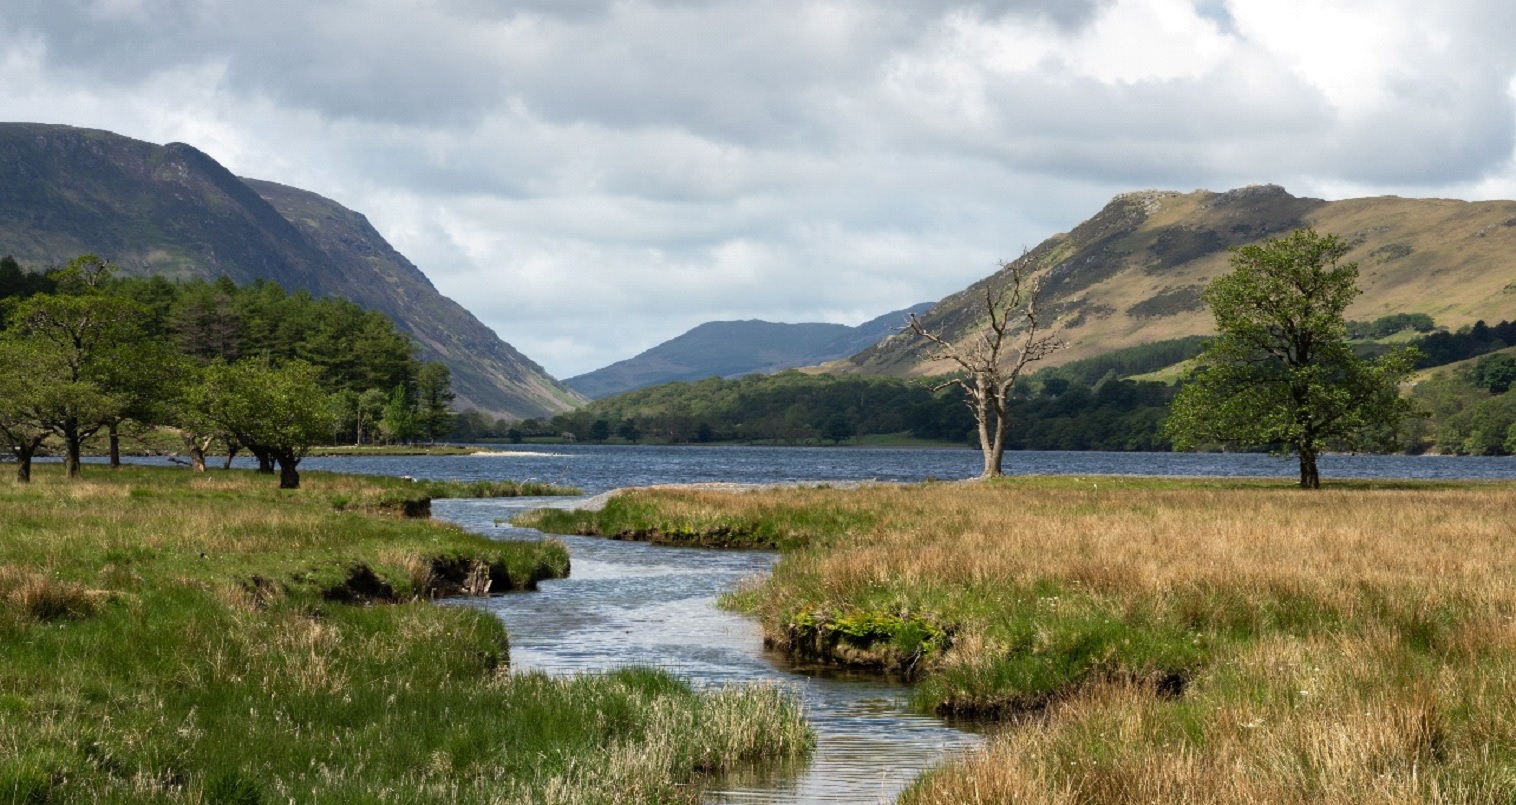
[[[525,446],[494,456],[311,458],[302,468],[426,479],[515,479],[596,494],[620,487],[690,482],[844,482],[970,478],[975,450],[826,447]],[[1296,478],[1296,464],[1266,455],[1007,453],[1008,473]],[[1516,479],[1516,458],[1323,456],[1322,476]],[[497,540],[541,534],[508,525],[537,506],[582,497],[438,500],[434,515]],[[700,550],[564,537],[570,578],[537,593],[456,599],[505,620],[511,664],[547,673],[622,666],[669,669],[696,685],[769,681],[794,690],[819,735],[813,763],[760,778],[719,781],[709,802],[888,802],[929,766],[978,741],[972,731],[911,713],[910,690],[867,675],[790,667],[764,652],[756,623],[716,608],[716,596],[766,573],[767,552]]]

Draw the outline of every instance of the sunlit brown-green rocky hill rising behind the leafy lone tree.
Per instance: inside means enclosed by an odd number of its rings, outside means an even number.
[[[1323,202],[1275,185],[1228,193],[1126,193],[1072,232],[1023,255],[1045,276],[1043,305],[1063,317],[1067,349],[1046,365],[1122,347],[1214,332],[1201,300],[1228,271],[1228,249],[1299,226],[1352,244],[1361,296],[1348,317],[1424,312],[1458,327],[1516,317],[1516,202],[1373,197]],[[985,283],[938,302],[923,323],[963,341],[982,326]],[[917,376],[951,371],[928,346],[893,335],[832,371]]]

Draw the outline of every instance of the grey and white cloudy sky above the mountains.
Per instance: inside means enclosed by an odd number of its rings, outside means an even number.
[[[1140,188],[1516,197],[1510,0],[3,0],[0,120],[362,211],[559,377]]]

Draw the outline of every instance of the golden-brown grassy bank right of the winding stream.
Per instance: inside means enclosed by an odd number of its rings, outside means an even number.
[[[543,528],[781,546],[794,653],[1007,725],[910,803],[1510,802],[1516,485],[646,490]]]

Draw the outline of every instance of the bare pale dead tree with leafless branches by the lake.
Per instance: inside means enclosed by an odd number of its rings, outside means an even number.
[[[984,453],[979,478],[1005,475],[1001,464],[1005,458],[1007,399],[1016,381],[1028,364],[1064,346],[1058,329],[1043,321],[1043,311],[1037,306],[1041,277],[1032,276],[1035,264],[1028,259],[1001,262],[1004,277],[984,283],[982,305],[988,321],[960,344],[928,330],[916,314],[907,320],[911,332],[935,344],[931,353],[934,361],[952,361],[963,371],[963,376],[944,381],[932,391],[957,385],[969,396],[966,403],[979,426],[979,450]]]

